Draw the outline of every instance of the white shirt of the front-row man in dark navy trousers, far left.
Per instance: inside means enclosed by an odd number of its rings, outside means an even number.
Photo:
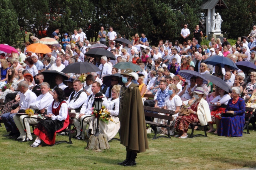
[[[29,89],[23,94],[20,94],[20,109],[27,109],[30,107],[31,103],[36,101],[36,95],[31,92]]]

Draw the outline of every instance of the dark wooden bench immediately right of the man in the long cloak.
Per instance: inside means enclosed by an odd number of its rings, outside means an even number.
[[[170,116],[159,115],[159,114],[156,114],[156,113],[153,113],[153,112],[165,113],[165,114],[169,114]],[[151,125],[152,129],[155,131],[155,135],[154,135],[153,139],[157,139],[157,138],[171,138],[170,131],[169,131],[170,130],[170,122],[173,120],[172,115],[175,114],[175,111],[166,110],[166,109],[159,109],[159,108],[154,108],[154,107],[149,107],[149,106],[144,106],[144,114],[145,114],[145,116],[148,116],[148,117],[168,120],[167,124],[161,124],[161,123],[155,123],[155,122],[151,122],[151,121],[146,121],[146,124]],[[167,132],[168,132],[168,136],[158,136],[157,137],[157,127],[166,128]]]

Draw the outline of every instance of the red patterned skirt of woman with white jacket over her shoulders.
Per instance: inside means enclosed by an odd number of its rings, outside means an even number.
[[[179,130],[187,133],[188,126],[192,122],[199,122],[197,115],[190,114],[189,116],[178,116],[175,121],[175,130],[179,132]]]

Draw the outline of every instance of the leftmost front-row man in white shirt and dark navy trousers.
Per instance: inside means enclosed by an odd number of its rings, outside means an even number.
[[[26,81],[19,82],[18,90],[21,92],[19,106],[16,109],[11,110],[11,112],[5,113],[1,116],[6,131],[10,132],[10,134],[6,136],[12,136],[10,137],[11,139],[16,139],[20,136],[13,120],[13,116],[20,110],[23,110],[21,113],[24,113],[25,109],[29,108],[31,103],[36,101],[36,95],[28,89],[28,83]]]

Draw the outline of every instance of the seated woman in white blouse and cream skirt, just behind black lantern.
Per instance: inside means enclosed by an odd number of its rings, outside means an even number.
[[[115,137],[117,132],[120,128],[120,122],[118,118],[119,113],[119,93],[120,93],[120,85],[113,86],[111,90],[111,98],[109,98],[107,101],[103,101],[103,106],[108,109],[108,111],[111,114],[112,121],[108,121],[108,124],[106,124],[103,121],[99,121],[99,131],[101,134],[107,135],[107,140],[111,140]],[[91,134],[94,134],[96,132],[97,127],[97,118],[93,116],[91,118],[91,121],[89,123],[89,131],[91,130]]]

